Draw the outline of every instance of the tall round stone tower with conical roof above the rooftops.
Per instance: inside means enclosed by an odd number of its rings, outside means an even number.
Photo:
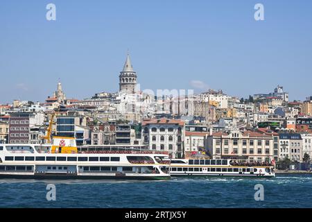
[[[136,85],[137,73],[133,71],[128,52],[125,65],[123,66],[123,71],[121,71],[119,75],[119,91],[125,94],[134,94]]]

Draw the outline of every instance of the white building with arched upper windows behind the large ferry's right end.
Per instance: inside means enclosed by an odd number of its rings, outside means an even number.
[[[171,157],[184,157],[184,122],[180,119],[151,119],[142,123],[143,144],[151,150],[168,151]]]

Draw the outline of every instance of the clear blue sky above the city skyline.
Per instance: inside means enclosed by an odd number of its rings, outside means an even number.
[[[46,20],[55,3],[56,21]],[[254,20],[263,3],[265,21]],[[116,92],[127,50],[141,89],[312,95],[311,0],[2,0],[0,103]]]

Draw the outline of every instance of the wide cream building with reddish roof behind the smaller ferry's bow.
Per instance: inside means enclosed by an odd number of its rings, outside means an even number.
[[[273,159],[272,135],[250,130],[228,130],[208,137],[207,151],[214,159],[268,161]]]

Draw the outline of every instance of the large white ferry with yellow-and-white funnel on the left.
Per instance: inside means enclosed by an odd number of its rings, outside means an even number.
[[[78,152],[75,138],[47,144],[0,144],[0,178],[139,179],[170,178],[168,155],[120,149]]]

